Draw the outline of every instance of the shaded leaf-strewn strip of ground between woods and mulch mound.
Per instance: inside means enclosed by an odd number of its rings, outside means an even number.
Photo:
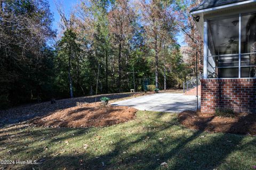
[[[97,101],[100,101],[101,97],[108,97],[111,99],[110,102],[113,102],[145,95],[148,95],[148,93],[135,92],[122,94],[105,94],[97,95]],[[0,127],[5,125],[12,125],[14,123],[29,121],[35,117],[45,116],[62,109],[75,107],[77,106],[77,103],[94,103],[94,101],[95,96],[85,96],[56,100],[56,104],[51,104],[50,101],[46,101],[43,103],[28,104],[6,110],[0,110]]]

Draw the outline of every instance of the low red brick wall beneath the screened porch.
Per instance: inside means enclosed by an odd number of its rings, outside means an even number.
[[[201,112],[214,113],[221,107],[256,113],[256,79],[201,80]]]

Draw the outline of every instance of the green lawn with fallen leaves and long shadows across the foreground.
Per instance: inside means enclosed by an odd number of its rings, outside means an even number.
[[[253,169],[256,165],[256,137],[189,130],[170,113],[139,111],[135,120],[106,128],[16,126],[2,129],[0,135],[2,160],[42,161],[11,165],[14,169]],[[163,162],[167,165],[161,166]]]

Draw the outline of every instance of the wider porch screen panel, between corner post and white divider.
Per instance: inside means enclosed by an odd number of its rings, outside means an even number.
[[[239,15],[208,21],[207,78],[238,78]]]

